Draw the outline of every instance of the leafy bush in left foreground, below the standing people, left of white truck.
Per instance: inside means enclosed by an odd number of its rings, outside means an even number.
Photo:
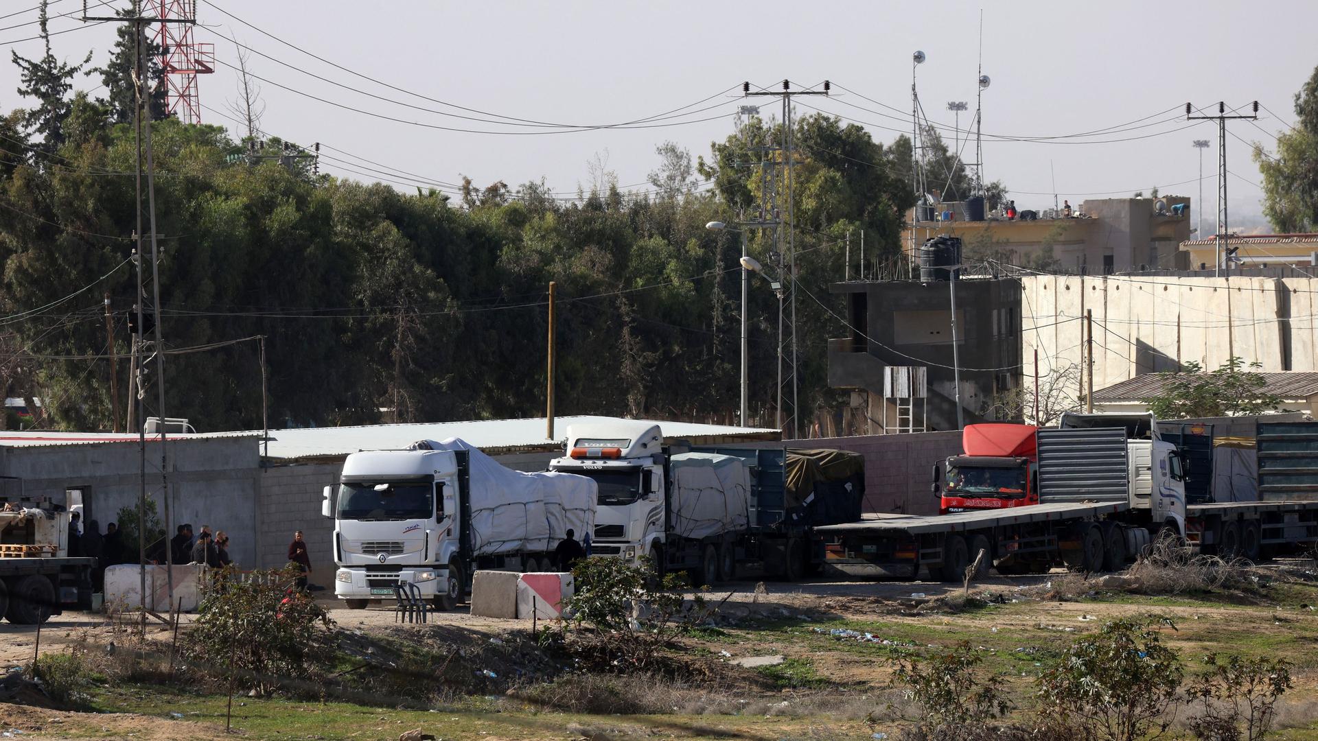
[[[220,572],[207,591],[192,629],[183,634],[185,655],[192,661],[237,670],[240,680],[258,692],[279,676],[306,679],[333,649],[333,621],[310,595],[293,584],[293,570],[254,571],[244,580]]]

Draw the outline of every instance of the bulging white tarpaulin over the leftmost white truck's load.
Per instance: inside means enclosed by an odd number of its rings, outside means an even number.
[[[513,471],[459,438],[413,448],[471,451],[472,555],[550,552],[569,527],[579,539],[594,531],[593,479]]]

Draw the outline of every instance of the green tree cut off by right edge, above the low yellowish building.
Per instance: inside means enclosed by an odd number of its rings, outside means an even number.
[[[1296,94],[1296,125],[1277,134],[1277,152],[1253,145],[1263,173],[1263,214],[1277,232],[1318,229],[1318,67]]]

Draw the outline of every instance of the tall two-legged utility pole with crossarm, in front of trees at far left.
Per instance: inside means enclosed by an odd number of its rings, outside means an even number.
[[[161,322],[161,289],[159,289],[159,235],[156,228],[156,160],[152,150],[152,111],[150,111],[150,66],[146,63],[146,26],[149,24],[161,24],[161,28],[166,28],[167,24],[186,24],[188,26],[195,25],[196,20],[194,17],[145,17],[141,12],[140,1],[134,1],[133,13],[129,16],[87,16],[87,3],[83,0],[83,22],[130,22],[133,24],[133,44],[136,47],[136,66],[133,70],[133,98],[136,103],[136,109],[133,115],[134,131],[137,132],[136,145],[137,145],[137,229],[134,232],[136,245],[133,249],[133,262],[137,265],[137,290],[134,298],[134,311],[137,314],[137,336],[133,338],[134,348],[134,361],[132,368],[133,382],[136,386],[137,397],[137,418],[134,423],[137,425],[137,444],[138,444],[138,458],[140,458],[140,490],[137,501],[137,514],[138,514],[138,558],[142,564],[141,568],[141,595],[142,595],[142,630],[146,628],[146,414],[145,414],[145,384],[144,377],[146,374],[148,364],[154,364],[154,384],[157,392],[157,409],[156,414],[159,419],[159,487],[161,497],[163,498],[163,516],[165,516],[165,531],[166,535],[171,527],[170,518],[170,496],[169,496],[169,435],[166,430],[167,415],[165,413],[165,341],[162,338],[162,322]],[[152,248],[152,265],[150,265],[150,299],[152,306],[152,319],[154,320],[154,336],[152,341],[145,338],[146,334],[146,307],[145,302],[148,299],[148,286],[146,286],[146,272],[142,266],[142,160],[145,149],[145,175],[146,175],[146,220],[150,228],[150,248]],[[150,345],[150,352],[148,353],[148,345]],[[171,548],[166,545],[165,547],[165,581],[167,588],[169,604],[174,604],[174,556]],[[154,605],[153,605],[154,607]]]

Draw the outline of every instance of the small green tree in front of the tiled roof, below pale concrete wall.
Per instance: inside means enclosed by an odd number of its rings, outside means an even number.
[[[1249,368],[1260,368],[1257,361]],[[1263,374],[1243,370],[1244,361],[1231,357],[1220,368],[1205,373],[1198,361],[1190,360],[1178,372],[1159,373],[1161,388],[1140,400],[1159,419],[1198,417],[1234,417],[1275,411],[1281,398],[1268,392]]]

